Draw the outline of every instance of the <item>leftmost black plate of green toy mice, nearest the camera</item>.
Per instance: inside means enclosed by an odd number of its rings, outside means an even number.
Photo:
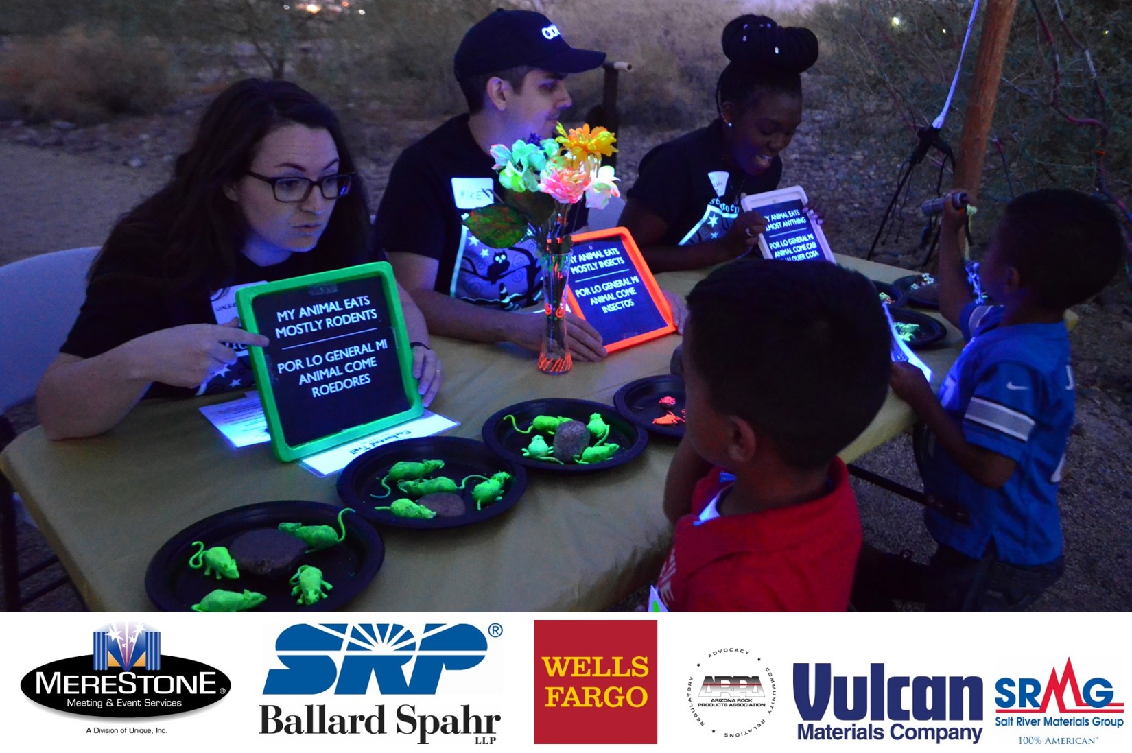
[[[341,609],[374,580],[385,559],[385,544],[374,527],[359,515],[346,513],[345,541],[327,549],[303,555],[300,565],[314,565],[323,571],[323,579],[333,585],[327,597],[320,601],[299,606],[298,597],[291,596],[293,588],[288,580],[293,574],[267,576],[243,573],[238,580],[205,577],[203,570],[191,570],[189,557],[198,547],[194,541],[204,541],[205,547],[228,546],[241,533],[280,523],[301,522],[303,525],[338,527],[341,507],[321,502],[294,499],[260,502],[255,505],[216,513],[171,538],[157,550],[145,574],[145,590],[149,600],[165,611],[189,611],[206,594],[215,589],[257,591],[267,601],[255,611],[332,611]],[[298,565],[295,566],[298,567]]]

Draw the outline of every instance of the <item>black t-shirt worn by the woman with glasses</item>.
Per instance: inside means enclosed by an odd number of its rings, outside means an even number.
[[[286,260],[267,267],[256,266],[242,254],[237,259],[231,285],[275,282],[314,272],[323,272],[317,249],[292,254]],[[130,243],[129,250],[115,254],[102,265],[98,276],[86,289],[86,300],[60,352],[93,358],[135,337],[185,324],[217,324],[212,301],[222,291],[200,286],[169,288],[156,282],[162,275],[154,245]],[[232,316],[235,316],[234,311]],[[190,395],[251,390],[255,386],[247,351],[200,387],[177,387],[154,382],[146,397],[187,397]]]

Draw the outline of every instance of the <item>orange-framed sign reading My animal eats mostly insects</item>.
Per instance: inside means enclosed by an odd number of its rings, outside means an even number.
[[[608,352],[676,332],[668,301],[625,228],[573,236],[569,310],[601,334]]]

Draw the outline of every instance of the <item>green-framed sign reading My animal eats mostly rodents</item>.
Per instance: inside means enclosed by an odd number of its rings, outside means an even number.
[[[282,461],[423,412],[385,262],[238,290],[240,322],[271,339],[250,348],[272,448]]]

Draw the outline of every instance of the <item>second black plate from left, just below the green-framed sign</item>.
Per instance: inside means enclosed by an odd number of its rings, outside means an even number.
[[[469,481],[466,488],[461,493],[466,512],[458,517],[437,515],[423,520],[394,515],[388,510],[375,510],[388,505],[394,499],[408,496],[402,494],[396,484],[393,482],[389,482],[389,488],[393,491],[387,497],[375,499],[371,496],[385,494],[380,481],[393,468],[393,464],[401,461],[420,462],[423,460],[444,461],[443,469],[426,478],[447,476],[460,482],[472,473],[490,477],[492,473],[506,471],[511,473],[512,479],[504,487],[503,499],[484,505],[483,510],[477,510],[475,502],[472,499],[472,488],[481,481],[478,479]],[[350,461],[350,464],[338,476],[338,496],[342,497],[348,507],[353,507],[363,517],[375,523],[397,528],[437,529],[479,523],[514,507],[524,491],[526,491],[526,471],[509,460],[499,457],[482,442],[460,437],[418,437],[374,447]]]

